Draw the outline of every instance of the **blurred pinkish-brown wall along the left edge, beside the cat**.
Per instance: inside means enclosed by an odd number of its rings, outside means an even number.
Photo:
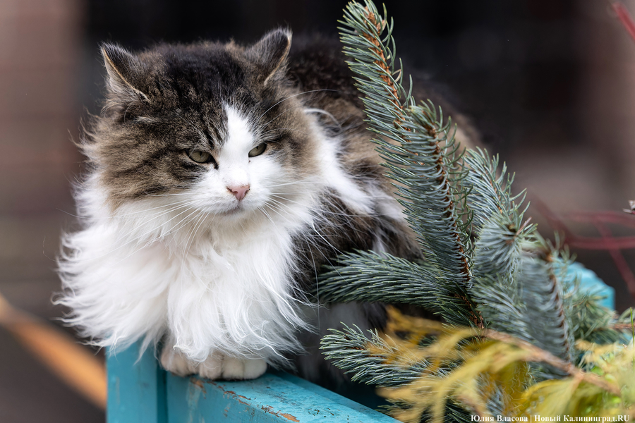
[[[73,210],[83,11],[79,0],[0,1],[0,292],[28,308],[49,302],[59,209]]]

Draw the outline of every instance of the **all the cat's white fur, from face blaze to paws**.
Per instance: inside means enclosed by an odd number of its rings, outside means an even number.
[[[249,158],[260,141],[240,112],[226,106],[226,114],[219,168],[193,188],[111,212],[92,174],[76,195],[85,227],[63,238],[58,302],[96,345],[143,338],[145,348],[167,336],[162,362],[172,371],[240,379],[264,372],[263,359],[300,350],[296,334],[307,324],[292,292],[292,238],[313,225],[320,192],[334,190],[358,214],[373,211],[378,193],[344,172],[337,140],[310,116],[320,171],[295,181],[267,154]],[[236,184],[250,185],[242,202],[227,190]]]

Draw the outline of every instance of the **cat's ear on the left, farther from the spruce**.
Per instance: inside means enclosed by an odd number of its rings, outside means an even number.
[[[147,95],[136,86],[143,74],[143,64],[139,59],[115,44],[104,43],[101,50],[108,73],[109,91],[121,99],[150,102]]]

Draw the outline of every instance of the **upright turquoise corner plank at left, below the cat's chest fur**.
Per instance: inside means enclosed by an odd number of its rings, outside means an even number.
[[[139,358],[139,344],[107,353],[108,423],[167,423],[166,372],[152,349]]]

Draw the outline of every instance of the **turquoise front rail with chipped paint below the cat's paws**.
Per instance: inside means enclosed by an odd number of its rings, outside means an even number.
[[[291,379],[293,377],[291,376]],[[309,384],[309,382],[306,382]],[[320,388],[321,389],[321,388]],[[253,381],[207,381],[167,376],[169,423],[394,423],[396,420],[346,398],[332,400],[279,376]]]

